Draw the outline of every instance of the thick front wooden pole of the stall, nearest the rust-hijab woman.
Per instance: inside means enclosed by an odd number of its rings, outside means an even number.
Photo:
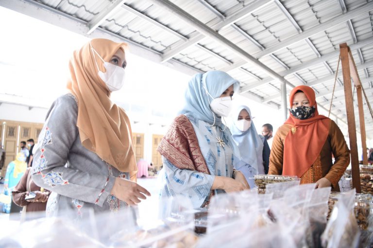
[[[352,96],[350,62],[349,62],[349,53],[348,53],[347,43],[340,44],[339,49],[340,49],[340,60],[342,62],[344,97],[346,101],[347,124],[348,124],[348,136],[350,138],[352,185],[354,188],[356,188],[356,193],[360,193],[361,192],[360,168],[359,168],[359,158],[357,154],[354,99]]]

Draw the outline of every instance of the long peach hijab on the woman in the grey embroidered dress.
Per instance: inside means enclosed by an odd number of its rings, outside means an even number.
[[[118,51],[127,47],[107,39],[93,39],[93,48],[109,62]],[[94,57],[96,56],[96,57]],[[129,172],[136,181],[137,165],[132,142],[130,120],[123,109],[110,100],[110,91],[98,76],[96,61],[105,72],[102,60],[94,54],[89,42],[74,51],[69,62],[70,79],[67,88],[78,100],[80,139],[83,146],[96,153],[119,171]]]

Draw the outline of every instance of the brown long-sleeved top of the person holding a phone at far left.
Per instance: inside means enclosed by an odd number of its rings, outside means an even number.
[[[26,190],[26,185],[28,183],[27,177],[31,169],[32,169],[31,167],[27,168],[27,170],[21,177],[21,180],[19,181],[17,186],[12,191],[12,199],[13,199],[13,202],[16,203],[18,206],[23,207],[27,205],[26,212],[45,211],[47,202],[27,202],[25,200],[25,197],[28,193],[28,191]],[[31,180],[30,190],[40,191],[40,187],[35,185],[34,181],[32,181],[32,178],[30,178],[30,180]]]

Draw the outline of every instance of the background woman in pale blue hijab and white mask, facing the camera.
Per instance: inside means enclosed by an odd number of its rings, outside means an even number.
[[[271,150],[267,140],[256,132],[249,107],[239,106],[232,114],[232,121],[230,130],[242,162],[235,169],[241,171],[250,187],[254,188],[254,175],[268,173]]]

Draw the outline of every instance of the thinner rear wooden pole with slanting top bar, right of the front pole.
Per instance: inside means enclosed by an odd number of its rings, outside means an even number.
[[[361,135],[361,147],[363,149],[363,164],[368,165],[368,155],[367,155],[367,138],[365,133],[365,119],[364,119],[364,105],[363,105],[363,96],[361,94],[361,81],[359,74],[357,73],[356,64],[350,47],[348,47],[348,58],[350,62],[350,72],[351,77],[354,80],[357,93],[357,106],[359,109],[359,121],[360,121],[360,135]]]

